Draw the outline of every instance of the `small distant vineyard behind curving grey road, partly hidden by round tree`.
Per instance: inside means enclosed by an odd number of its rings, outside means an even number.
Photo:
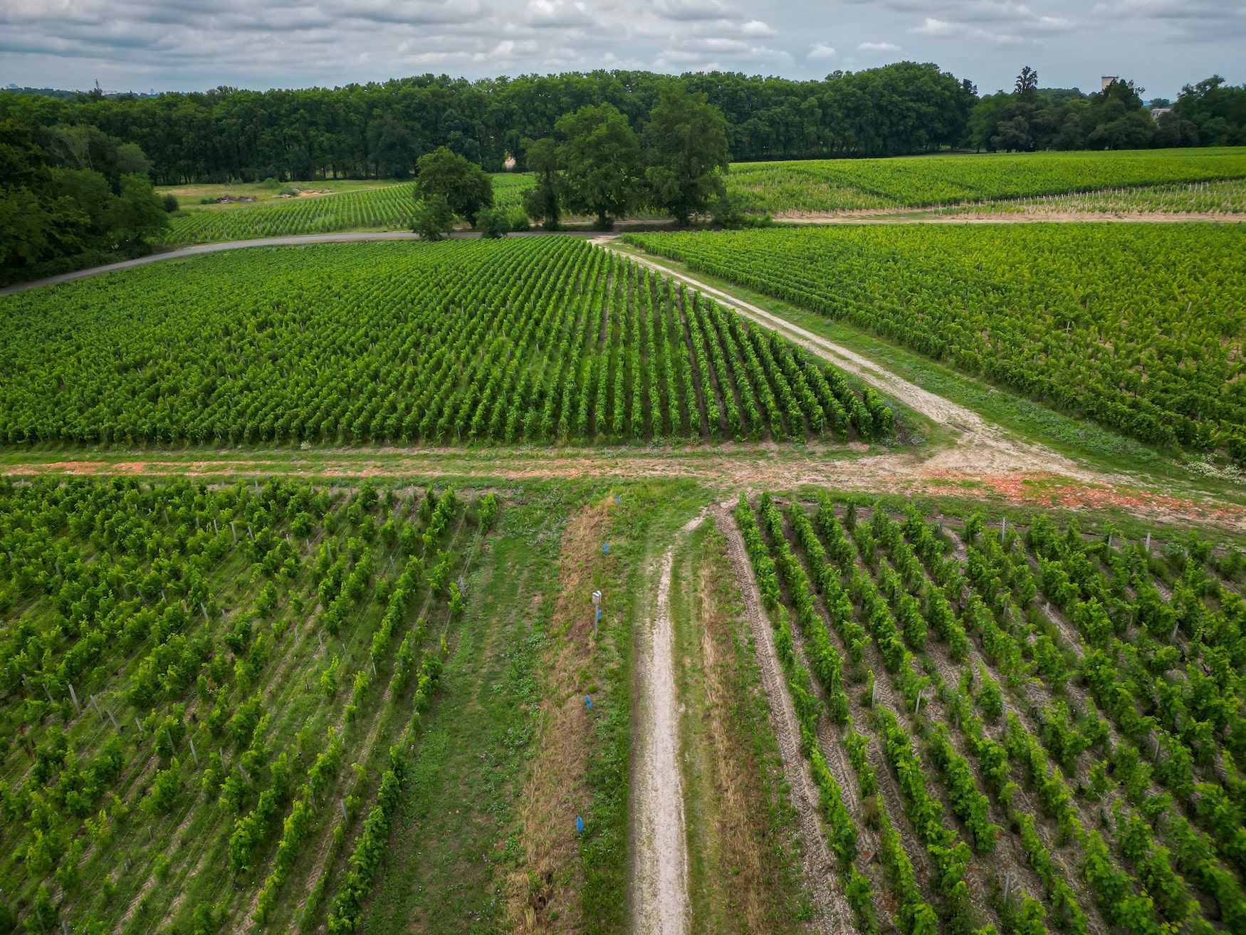
[[[532,178],[498,173],[493,177],[498,207],[520,204]],[[173,217],[164,243],[216,243],[262,237],[335,233],[338,231],[409,231],[415,194],[411,185],[386,185],[282,202],[227,208],[191,208]]]

